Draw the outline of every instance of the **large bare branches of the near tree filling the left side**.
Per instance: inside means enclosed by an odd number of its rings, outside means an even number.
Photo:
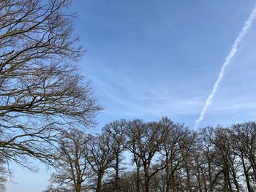
[[[50,160],[65,126],[88,125],[101,110],[75,66],[83,50],[73,15],[63,12],[68,5],[0,1],[0,154],[7,161]]]

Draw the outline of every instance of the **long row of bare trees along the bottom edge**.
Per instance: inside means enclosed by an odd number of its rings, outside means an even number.
[[[68,145],[67,145],[68,144]],[[72,129],[48,191],[255,191],[256,123],[191,131],[168,118]],[[124,158],[126,157],[126,158]]]

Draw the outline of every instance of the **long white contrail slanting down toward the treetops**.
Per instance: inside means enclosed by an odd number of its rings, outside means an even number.
[[[222,65],[222,69],[219,72],[219,76],[217,78],[217,81],[214,83],[214,88],[212,88],[211,94],[208,96],[208,98],[206,100],[206,103],[203,106],[203,110],[200,113],[199,118],[197,118],[197,120],[195,120],[194,128],[197,128],[199,126],[199,123],[205,117],[206,112],[208,110],[208,107],[210,106],[211,101],[214,98],[214,95],[217,92],[217,89],[219,88],[219,83],[222,81],[222,78],[225,74],[225,70],[226,70],[227,66],[230,64],[230,61],[232,60],[234,55],[236,55],[236,52],[238,51],[238,45],[240,44],[240,42],[242,41],[242,39],[244,38],[244,36],[248,32],[249,28],[252,26],[252,23],[255,20],[255,18],[256,18],[256,4],[255,4],[255,8],[252,10],[251,15],[249,15],[249,18],[244,23],[244,27],[241,29],[238,37],[236,37],[236,40],[234,41],[234,43],[231,47],[230,53],[225,58],[225,62]]]

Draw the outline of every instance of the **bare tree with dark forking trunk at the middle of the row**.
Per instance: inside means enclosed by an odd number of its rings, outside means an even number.
[[[163,131],[165,130],[157,122],[142,123],[135,120],[129,124],[127,148],[131,151],[136,166],[141,164],[143,167],[146,192],[151,191],[151,178],[165,167],[161,160],[154,161],[162,149]]]

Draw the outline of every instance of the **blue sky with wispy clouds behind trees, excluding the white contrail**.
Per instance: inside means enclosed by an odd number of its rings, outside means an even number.
[[[195,120],[256,1],[73,1],[75,34],[86,50],[78,67],[91,80],[99,104],[99,131],[120,118],[167,116],[193,128]],[[204,126],[256,120],[256,23],[227,66]],[[39,192],[48,172],[13,165],[7,192]],[[29,179],[28,179],[29,178]]]

